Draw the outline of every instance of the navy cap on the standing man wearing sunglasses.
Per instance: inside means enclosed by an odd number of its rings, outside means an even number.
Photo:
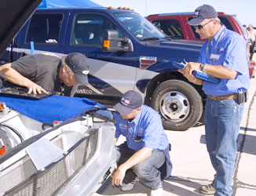
[[[194,16],[191,20],[188,21],[189,25],[196,26],[203,22],[205,19],[217,18],[218,13],[210,5],[201,5],[199,6],[194,13]]]

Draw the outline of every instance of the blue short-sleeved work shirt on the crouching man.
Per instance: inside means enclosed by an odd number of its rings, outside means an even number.
[[[132,122],[123,120],[118,112],[115,114],[115,138],[119,138],[121,134],[126,136],[130,149],[139,151],[142,147],[148,147],[155,151],[164,151],[169,146],[161,118],[151,107],[142,105],[141,111]],[[141,140],[135,141],[134,138]]]

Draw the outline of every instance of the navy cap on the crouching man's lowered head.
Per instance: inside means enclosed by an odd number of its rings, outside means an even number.
[[[140,93],[130,90],[123,94],[119,103],[116,103],[114,109],[119,114],[130,114],[134,109],[141,107],[143,99]]]

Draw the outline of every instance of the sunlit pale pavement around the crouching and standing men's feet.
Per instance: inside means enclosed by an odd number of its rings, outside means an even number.
[[[233,196],[256,195],[256,79],[251,78],[249,99],[245,103],[240,135],[237,140],[238,151],[236,169],[233,176]],[[174,169],[172,176],[163,182],[163,196],[195,196],[198,188],[211,183],[214,169],[207,153],[204,125],[197,125],[185,132],[166,131],[172,144],[170,158]],[[125,195],[145,196],[150,192],[141,183],[136,183],[132,191],[123,192],[112,187],[109,179],[93,196]]]

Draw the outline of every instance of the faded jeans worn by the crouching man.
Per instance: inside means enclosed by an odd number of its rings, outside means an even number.
[[[126,143],[117,147],[118,165],[126,162],[135,152],[136,151],[128,148]],[[137,165],[134,165],[131,169],[126,171],[123,183],[130,183],[137,176],[140,179],[140,182],[146,187],[153,190],[157,189],[161,183],[161,172],[159,169],[164,162],[165,155],[163,151],[152,151],[152,155],[149,158]]]

